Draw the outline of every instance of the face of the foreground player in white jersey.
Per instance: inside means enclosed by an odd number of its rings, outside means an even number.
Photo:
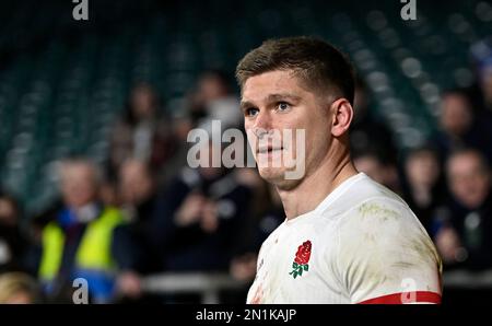
[[[247,79],[242,109],[259,173],[268,182],[281,189],[294,188],[324,161],[331,141],[329,103],[306,90],[292,71],[269,71]],[[304,130],[305,141],[296,139],[297,130]],[[294,168],[304,164],[303,174],[285,178],[294,162]]]

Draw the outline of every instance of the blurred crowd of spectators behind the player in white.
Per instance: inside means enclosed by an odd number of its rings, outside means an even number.
[[[284,220],[274,188],[255,168],[191,168],[186,160],[191,129],[212,132],[213,119],[223,130],[242,128],[234,90],[223,72],[203,72],[185,109],[168,116],[151,84],[136,84],[114,121],[104,166],[67,158],[59,201],[27,225],[16,199],[1,193],[0,302],[71,302],[79,277],[91,302],[101,303],[197,301],[147,294],[142,279],[160,272],[219,271],[253,281],[262,241]],[[403,153],[358,80],[353,160],[410,205],[445,272],[491,269],[492,63],[472,88],[447,90],[440,101],[438,131]]]

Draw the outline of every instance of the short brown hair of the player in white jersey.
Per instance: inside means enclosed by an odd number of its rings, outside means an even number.
[[[305,36],[266,40],[239,61],[236,79],[243,88],[248,78],[273,70],[293,70],[309,88],[330,90],[353,104],[354,69],[327,42]]]

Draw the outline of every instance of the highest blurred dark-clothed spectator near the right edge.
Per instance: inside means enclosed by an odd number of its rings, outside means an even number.
[[[469,97],[461,90],[445,92],[441,98],[438,118],[441,132],[433,143],[437,145],[443,160],[455,150],[475,148],[492,159],[491,126],[487,118],[477,119]]]

